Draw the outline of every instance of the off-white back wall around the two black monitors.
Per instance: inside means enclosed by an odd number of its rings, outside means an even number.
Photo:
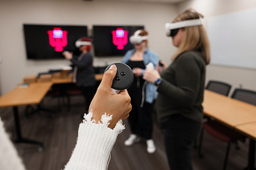
[[[66,60],[27,60],[23,23],[87,25],[144,25],[149,32],[149,48],[170,63],[175,48],[164,35],[164,24],[176,15],[176,5],[155,3],[88,2],[82,0],[1,0],[0,1],[0,94],[13,89],[26,75],[36,75],[52,67],[69,65]],[[104,65],[95,58],[94,65]],[[121,57],[108,58],[109,64]]]

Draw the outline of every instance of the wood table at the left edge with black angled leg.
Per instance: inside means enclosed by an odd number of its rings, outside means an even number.
[[[18,106],[23,105],[39,105],[42,98],[51,88],[52,82],[37,82],[30,83],[26,88],[16,87],[10,92],[4,94],[0,97],[0,107],[13,107],[14,119],[15,119],[15,128],[17,139],[15,142],[20,143],[33,143],[39,144],[41,149],[44,147],[42,142],[26,139],[22,137],[22,132],[20,130],[19,115],[18,115]]]

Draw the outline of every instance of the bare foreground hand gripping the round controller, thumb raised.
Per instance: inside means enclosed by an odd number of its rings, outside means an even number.
[[[92,119],[95,119],[96,124],[99,122],[102,123],[102,114],[107,113],[113,115],[108,126],[111,129],[115,128],[120,119],[126,119],[132,110],[131,98],[126,89],[121,90],[119,94],[113,94],[110,90],[113,79],[116,77],[116,71],[116,65],[112,64],[110,69],[104,73],[89,108],[89,111],[93,112]]]

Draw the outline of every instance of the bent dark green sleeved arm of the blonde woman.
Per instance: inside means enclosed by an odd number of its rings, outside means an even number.
[[[157,91],[177,105],[193,105],[199,92],[202,67],[195,56],[180,56],[161,74],[163,80]]]

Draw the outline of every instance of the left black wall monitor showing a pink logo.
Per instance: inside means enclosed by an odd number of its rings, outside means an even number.
[[[78,54],[75,41],[87,36],[87,26],[23,26],[28,59],[64,59],[63,51]]]

